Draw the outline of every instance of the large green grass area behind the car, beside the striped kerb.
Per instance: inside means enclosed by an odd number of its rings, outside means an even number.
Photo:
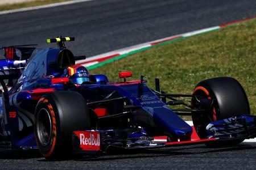
[[[147,78],[154,88],[191,94],[201,80],[232,76],[245,88],[251,113],[256,114],[256,20],[157,46],[90,71],[118,80],[118,72],[133,71],[133,79]],[[131,78],[130,78],[131,79]]]

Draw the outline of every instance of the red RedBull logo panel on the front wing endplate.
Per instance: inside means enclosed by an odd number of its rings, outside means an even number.
[[[85,151],[100,150],[100,132],[98,131],[74,131],[80,139],[80,148]]]

